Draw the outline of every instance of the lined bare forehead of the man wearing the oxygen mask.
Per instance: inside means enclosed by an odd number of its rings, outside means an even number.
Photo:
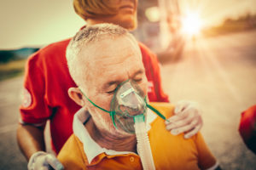
[[[89,56],[84,61],[86,66],[86,78],[88,83],[95,83],[98,80],[103,83],[107,79],[122,79],[135,71],[143,70],[143,60],[137,41],[130,36],[102,39],[92,42],[80,53],[82,56]],[[92,84],[90,84],[92,85]]]

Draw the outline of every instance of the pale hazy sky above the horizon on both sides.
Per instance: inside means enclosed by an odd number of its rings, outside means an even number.
[[[139,0],[143,1],[143,0]],[[183,11],[198,10],[208,25],[256,14],[256,0],[180,0]],[[194,8],[194,9],[192,9]],[[0,0],[0,49],[42,47],[73,37],[84,20],[73,10],[73,0]]]

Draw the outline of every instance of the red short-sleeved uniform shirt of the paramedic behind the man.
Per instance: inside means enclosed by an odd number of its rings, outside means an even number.
[[[79,110],[68,97],[67,89],[76,87],[67,69],[65,57],[70,39],[55,42],[29,57],[25,73],[25,102],[20,106],[21,122],[42,124],[50,119],[53,149],[58,153],[73,133],[73,114]],[[139,43],[148,77],[150,101],[168,102],[160,82],[158,60],[148,48]]]

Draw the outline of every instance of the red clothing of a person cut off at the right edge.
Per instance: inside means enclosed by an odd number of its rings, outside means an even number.
[[[241,113],[239,133],[247,148],[256,154],[256,105]]]

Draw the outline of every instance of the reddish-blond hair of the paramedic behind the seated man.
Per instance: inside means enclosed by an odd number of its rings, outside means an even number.
[[[118,8],[111,2],[105,0],[73,0],[73,8],[84,20],[97,16],[105,16],[106,14],[118,13]]]

